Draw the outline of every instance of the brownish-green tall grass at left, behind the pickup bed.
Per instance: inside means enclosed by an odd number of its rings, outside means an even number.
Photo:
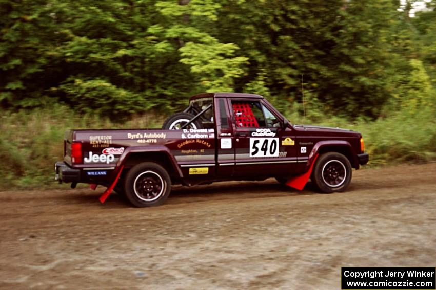
[[[0,190],[10,188],[65,188],[54,182],[54,163],[63,158],[67,129],[160,128],[163,117],[133,116],[118,123],[108,117],[75,115],[55,105],[17,113],[0,111]]]

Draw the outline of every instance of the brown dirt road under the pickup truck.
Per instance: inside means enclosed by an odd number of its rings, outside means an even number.
[[[2,289],[340,289],[341,266],[436,266],[436,163],[354,171],[345,193],[274,180],[0,192]]]

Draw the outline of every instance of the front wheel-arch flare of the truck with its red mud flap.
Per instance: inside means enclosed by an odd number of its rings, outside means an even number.
[[[307,181],[310,178],[310,174],[312,174],[313,166],[315,164],[316,159],[318,159],[320,155],[321,148],[327,146],[335,146],[335,147],[344,146],[347,147],[347,149],[350,149],[354,164],[356,165],[356,169],[359,168],[359,161],[357,159],[357,155],[355,154],[355,151],[349,142],[341,141],[341,140],[320,141],[316,143],[315,146],[313,146],[312,151],[310,151],[309,159],[307,160],[306,163],[306,171],[303,174],[296,175],[291,179],[289,179],[286,185],[298,190],[303,190],[304,186],[307,184]]]

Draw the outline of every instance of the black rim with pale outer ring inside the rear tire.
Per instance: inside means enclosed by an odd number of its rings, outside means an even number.
[[[153,202],[163,195],[165,182],[161,175],[148,170],[136,177],[133,183],[133,190],[136,196],[144,200],[144,202]]]

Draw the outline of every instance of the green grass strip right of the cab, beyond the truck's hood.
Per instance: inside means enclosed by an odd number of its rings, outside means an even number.
[[[319,113],[309,115],[306,121],[298,114],[292,114],[292,118],[295,124],[305,122],[361,132],[365,151],[370,155],[368,166],[436,160],[436,116],[431,108],[422,109],[416,114],[396,111],[375,121],[365,118],[349,121]]]

